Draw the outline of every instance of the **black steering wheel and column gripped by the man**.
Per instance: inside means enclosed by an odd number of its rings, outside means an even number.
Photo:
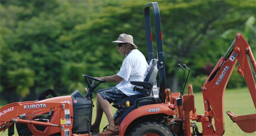
[[[85,98],[90,98],[90,99],[92,99],[93,97],[93,91],[94,91],[94,89],[100,84],[100,83],[102,83],[102,82],[106,82],[105,80],[101,80],[101,79],[96,79],[96,78],[94,78],[94,77],[90,77],[90,76],[87,76],[87,75],[83,75],[83,77],[86,79],[85,81],[86,81],[86,83],[87,83],[87,85],[88,85],[88,92],[87,92],[87,94],[86,94],[86,97]],[[89,79],[92,79],[93,80],[93,82],[90,84],[90,82],[89,82]],[[98,83],[96,84],[96,85],[94,85],[94,82],[95,81],[98,81]]]

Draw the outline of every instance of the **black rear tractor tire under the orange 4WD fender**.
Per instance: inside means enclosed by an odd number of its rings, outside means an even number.
[[[129,136],[173,136],[171,131],[158,122],[143,122],[136,125]]]

